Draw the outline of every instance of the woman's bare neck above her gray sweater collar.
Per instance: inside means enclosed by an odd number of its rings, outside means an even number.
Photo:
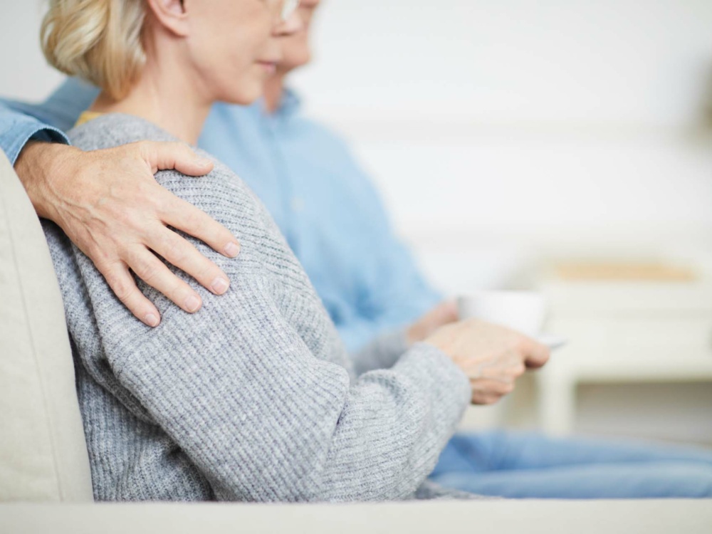
[[[91,110],[142,117],[196,145],[212,102],[201,96],[196,78],[185,73],[170,56],[149,60],[125,98],[114,100],[102,93]]]

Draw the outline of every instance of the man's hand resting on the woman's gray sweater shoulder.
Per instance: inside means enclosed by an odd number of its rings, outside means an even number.
[[[183,310],[194,313],[201,306],[198,293],[156,254],[216,295],[229,287],[218,266],[167,226],[195,236],[229,258],[239,253],[237,240],[154,178],[159,169],[202,176],[212,167],[187,145],[147,141],[93,152],[30,142],[15,164],[37,214],[58,224],[131,313],[150,326],[159,324],[160,315],[129,270]]]

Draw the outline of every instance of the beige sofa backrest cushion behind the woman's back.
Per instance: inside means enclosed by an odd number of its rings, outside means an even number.
[[[91,501],[64,310],[39,220],[0,151],[0,501]]]

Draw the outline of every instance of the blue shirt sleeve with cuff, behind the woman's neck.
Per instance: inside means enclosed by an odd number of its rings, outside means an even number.
[[[14,165],[30,140],[68,144],[64,132],[97,94],[91,85],[70,78],[41,104],[0,99],[0,149]]]

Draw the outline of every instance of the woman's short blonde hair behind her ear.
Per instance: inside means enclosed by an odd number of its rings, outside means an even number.
[[[54,68],[123,98],[146,62],[145,16],[145,0],[50,0],[42,51]]]

